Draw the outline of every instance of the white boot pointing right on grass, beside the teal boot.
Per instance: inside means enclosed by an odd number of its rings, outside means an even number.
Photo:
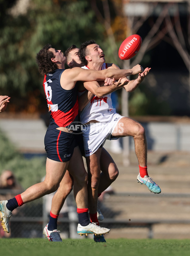
[[[91,222],[87,226],[81,226],[80,224],[78,224],[78,227],[77,227],[77,233],[81,236],[82,235],[87,236],[87,234],[101,235],[101,234],[107,234],[108,232],[110,232],[110,229],[97,226],[94,222]]]

